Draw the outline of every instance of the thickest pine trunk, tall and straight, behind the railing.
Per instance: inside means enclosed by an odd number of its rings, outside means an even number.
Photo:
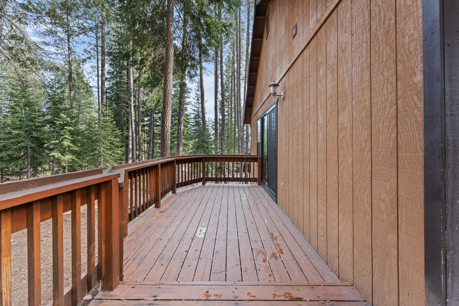
[[[174,0],[168,0],[166,18],[166,69],[161,113],[161,157],[170,156],[172,78],[174,69]]]

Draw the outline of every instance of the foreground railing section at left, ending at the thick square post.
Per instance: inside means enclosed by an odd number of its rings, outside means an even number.
[[[11,233],[27,229],[28,305],[41,305],[40,222],[52,223],[54,305],[77,305],[86,289],[103,279],[119,283],[117,173],[101,169],[0,184],[1,305],[11,305]],[[95,261],[95,201],[98,202],[98,261]],[[87,204],[87,271],[81,272],[81,206]],[[63,214],[72,211],[72,285],[64,289]]]

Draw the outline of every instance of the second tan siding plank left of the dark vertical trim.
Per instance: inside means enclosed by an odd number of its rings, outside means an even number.
[[[398,304],[395,2],[371,1],[373,303]]]

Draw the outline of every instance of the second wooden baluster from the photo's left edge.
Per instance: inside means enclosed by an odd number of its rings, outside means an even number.
[[[40,305],[40,201],[27,204],[27,265],[28,305]]]

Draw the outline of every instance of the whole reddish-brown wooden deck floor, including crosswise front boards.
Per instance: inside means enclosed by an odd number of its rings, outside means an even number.
[[[123,266],[118,287],[90,305],[368,305],[253,184],[169,195],[129,223]]]

